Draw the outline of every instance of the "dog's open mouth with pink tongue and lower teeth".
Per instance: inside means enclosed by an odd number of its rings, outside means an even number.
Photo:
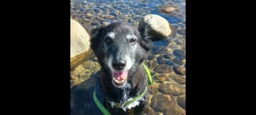
[[[127,80],[128,71],[112,72],[113,82],[117,86],[124,84]]]

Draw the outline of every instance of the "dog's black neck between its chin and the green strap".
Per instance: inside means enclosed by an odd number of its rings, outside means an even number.
[[[105,94],[107,101],[124,103],[129,97],[137,97],[147,87],[146,72],[142,65],[137,66],[133,70],[136,72],[130,72],[127,77],[127,84],[122,88],[114,87],[112,76],[105,70],[100,71],[100,82],[102,90]]]

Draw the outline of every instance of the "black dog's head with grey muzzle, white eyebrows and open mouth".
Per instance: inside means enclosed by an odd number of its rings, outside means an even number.
[[[124,23],[92,30],[91,48],[115,87],[123,87],[153,47],[137,28]]]

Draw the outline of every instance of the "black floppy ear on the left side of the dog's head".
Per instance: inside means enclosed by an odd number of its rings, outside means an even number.
[[[91,39],[90,39],[90,47],[93,51],[97,49],[97,47],[100,45],[100,33],[102,32],[103,27],[98,27],[92,29],[91,33]]]

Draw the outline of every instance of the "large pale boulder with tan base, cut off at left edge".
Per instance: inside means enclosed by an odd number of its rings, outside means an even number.
[[[90,35],[78,21],[70,18],[70,68],[78,66],[90,52]]]

